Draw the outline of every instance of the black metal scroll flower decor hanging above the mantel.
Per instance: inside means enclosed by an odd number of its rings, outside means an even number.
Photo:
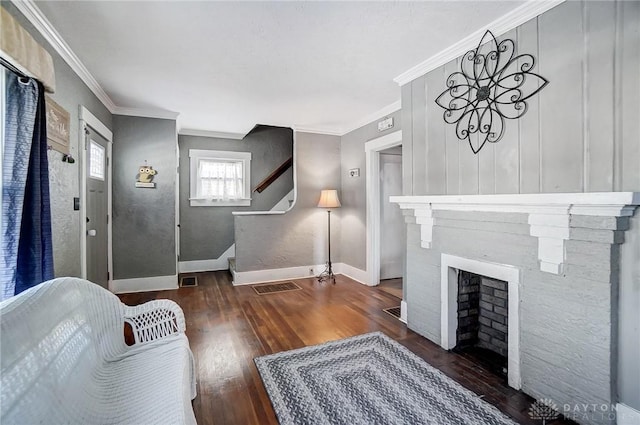
[[[487,31],[475,50],[462,57],[460,71],[447,78],[447,89],[436,103],[444,120],[456,125],[456,136],[466,140],[474,154],[504,135],[505,119],[518,119],[528,109],[527,99],[549,82],[531,72],[535,58],[515,54],[513,40],[500,43]]]

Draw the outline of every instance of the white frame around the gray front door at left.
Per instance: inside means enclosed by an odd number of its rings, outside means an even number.
[[[110,291],[113,282],[113,235],[112,235],[112,189],[113,189],[113,173],[111,153],[113,152],[113,133],[87,108],[80,105],[79,108],[79,127],[78,127],[78,149],[81,154],[80,161],[80,275],[83,279],[87,278],[87,149],[85,146],[86,127],[91,127],[93,131],[107,140],[107,271],[109,279],[107,285]]]

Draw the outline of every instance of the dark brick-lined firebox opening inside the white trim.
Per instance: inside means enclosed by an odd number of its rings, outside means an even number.
[[[458,328],[453,351],[507,378],[508,284],[460,270]]]

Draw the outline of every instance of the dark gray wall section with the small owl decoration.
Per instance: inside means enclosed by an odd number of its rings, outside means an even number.
[[[176,122],[113,117],[113,274],[129,279],[176,274]],[[136,188],[145,161],[155,189]]]

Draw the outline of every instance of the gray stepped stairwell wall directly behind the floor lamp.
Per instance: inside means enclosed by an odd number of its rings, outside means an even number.
[[[327,261],[327,212],[317,207],[322,189],[340,187],[340,138],[295,133],[294,207],[281,215],[236,216],[239,272],[323,264]],[[340,200],[344,199],[338,193]],[[331,213],[331,260],[341,261],[343,208]]]

